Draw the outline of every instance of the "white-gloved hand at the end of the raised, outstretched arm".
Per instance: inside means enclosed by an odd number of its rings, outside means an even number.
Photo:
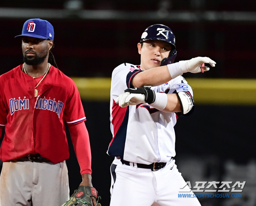
[[[204,63],[208,63],[211,66],[215,66],[216,62],[211,60],[209,57],[196,57],[191,60],[179,61],[179,65],[181,66],[181,70],[183,73],[191,72],[191,73],[199,73],[201,72],[200,66]],[[208,71],[209,67],[203,66],[203,71]]]

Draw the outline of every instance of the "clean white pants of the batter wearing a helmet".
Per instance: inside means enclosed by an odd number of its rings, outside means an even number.
[[[197,198],[178,197],[185,183],[174,159],[158,171],[132,163],[123,165],[115,159],[111,165],[110,206],[201,206]]]

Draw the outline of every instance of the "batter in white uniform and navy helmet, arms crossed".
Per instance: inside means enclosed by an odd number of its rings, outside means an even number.
[[[112,73],[110,205],[200,206],[197,198],[178,197],[185,180],[173,159],[174,127],[179,115],[194,110],[192,88],[181,75],[216,63],[208,57],[173,63],[175,37],[162,24],[144,31],[138,53],[140,65],[124,63]]]

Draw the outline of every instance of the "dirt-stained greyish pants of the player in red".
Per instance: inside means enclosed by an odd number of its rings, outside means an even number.
[[[3,163],[0,206],[60,206],[68,199],[66,161]]]

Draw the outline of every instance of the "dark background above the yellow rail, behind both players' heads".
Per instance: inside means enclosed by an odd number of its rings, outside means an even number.
[[[21,40],[14,39],[14,36],[21,34],[23,23],[28,19],[22,18],[22,15],[29,16],[29,13],[35,13],[33,18],[44,17],[53,25],[53,54],[59,68],[68,76],[110,77],[112,70],[123,62],[140,64],[137,43],[141,34],[148,26],[161,23],[170,27],[175,34],[178,52],[176,61],[195,56],[208,56],[217,62],[218,66],[211,72],[201,75],[202,77],[256,78],[256,1],[78,0],[81,5],[74,1],[38,0],[35,3],[31,0],[1,0],[1,9],[21,9],[21,14],[17,18],[13,14],[16,10],[12,10],[0,20],[0,73],[5,73],[21,63]],[[71,9],[72,5],[77,8]],[[58,10],[49,10],[49,14],[41,14],[41,10],[38,11],[41,8]],[[60,11],[66,12],[66,15],[55,18],[54,14]],[[103,14],[95,20],[92,16],[79,16],[82,11],[124,13],[110,20]],[[0,10],[0,17],[1,12],[4,11]],[[166,16],[143,19],[143,15],[155,14],[151,12],[159,12]],[[194,17],[177,20],[167,18],[172,14],[184,15],[185,12]],[[211,12],[219,12],[216,16],[219,19],[209,20],[203,16],[204,13]],[[233,12],[240,13],[230,18]],[[141,14],[140,18],[138,15]],[[195,77],[190,74],[185,76]]]

